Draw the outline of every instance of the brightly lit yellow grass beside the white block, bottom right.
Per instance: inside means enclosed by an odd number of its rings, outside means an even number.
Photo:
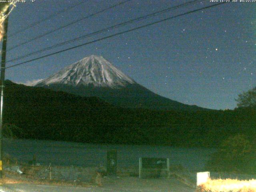
[[[256,192],[256,180],[209,179],[197,192]]]

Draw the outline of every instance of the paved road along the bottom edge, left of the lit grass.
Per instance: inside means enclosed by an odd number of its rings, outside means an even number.
[[[35,184],[7,184],[0,186],[0,192],[195,192],[178,180],[156,180],[137,183],[121,180],[107,183],[102,187],[49,186]],[[146,184],[146,185],[145,185]],[[157,184],[157,185],[156,185]]]

